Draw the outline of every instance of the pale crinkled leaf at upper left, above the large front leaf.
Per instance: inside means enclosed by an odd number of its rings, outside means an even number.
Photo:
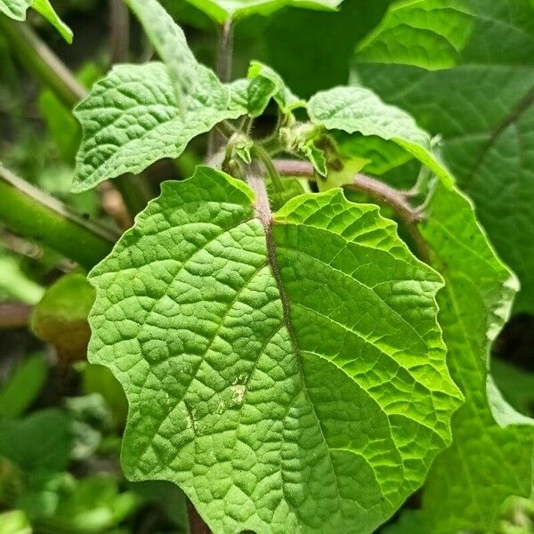
[[[195,93],[182,116],[162,63],[119,65],[75,109],[83,128],[72,190],[89,190],[121,174],[139,174],[161,158],[178,158],[191,139],[242,111],[214,73],[198,66]]]

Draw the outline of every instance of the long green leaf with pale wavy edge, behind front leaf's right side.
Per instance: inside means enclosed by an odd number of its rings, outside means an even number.
[[[488,532],[506,498],[528,497],[534,489],[534,421],[506,405],[487,378],[490,345],[509,316],[518,284],[463,194],[439,188],[426,215],[421,232],[446,282],[438,294],[439,319],[465,405],[452,418],[451,447],[428,474],[421,510],[403,514],[388,532]]]

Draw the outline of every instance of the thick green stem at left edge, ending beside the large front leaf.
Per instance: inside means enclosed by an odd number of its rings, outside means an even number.
[[[0,219],[11,231],[53,248],[87,270],[109,254],[118,238],[4,166],[0,166]]]

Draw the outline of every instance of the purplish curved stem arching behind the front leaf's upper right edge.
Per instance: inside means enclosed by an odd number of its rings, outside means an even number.
[[[313,166],[307,161],[275,159],[273,164],[282,176],[303,176],[309,180],[314,179]],[[380,204],[390,206],[409,231],[420,259],[428,263],[428,247],[421,232],[417,229],[417,223],[421,221],[422,216],[417,209],[410,206],[408,196],[404,192],[365,174],[356,174],[354,181],[346,185],[345,188],[361,191],[376,199]]]

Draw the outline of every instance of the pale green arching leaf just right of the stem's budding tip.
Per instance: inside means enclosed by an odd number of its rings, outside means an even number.
[[[447,187],[452,187],[454,179],[433,155],[430,136],[408,113],[384,104],[372,91],[364,87],[322,91],[312,97],[308,112],[312,122],[328,130],[376,135],[396,143],[439,176]]]

